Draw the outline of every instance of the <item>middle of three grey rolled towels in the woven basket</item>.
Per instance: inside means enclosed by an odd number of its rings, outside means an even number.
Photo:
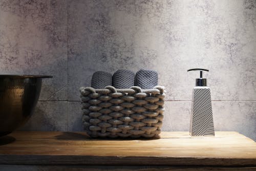
[[[130,70],[117,70],[112,77],[112,86],[116,89],[129,89],[134,86],[134,72]]]

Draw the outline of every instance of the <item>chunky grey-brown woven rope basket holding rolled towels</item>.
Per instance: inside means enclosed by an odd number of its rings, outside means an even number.
[[[82,122],[91,137],[159,137],[164,112],[164,87],[151,90],[81,87]]]

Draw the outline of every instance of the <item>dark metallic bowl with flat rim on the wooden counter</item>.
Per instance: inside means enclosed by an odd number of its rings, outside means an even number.
[[[22,126],[38,101],[42,75],[0,75],[0,136]]]

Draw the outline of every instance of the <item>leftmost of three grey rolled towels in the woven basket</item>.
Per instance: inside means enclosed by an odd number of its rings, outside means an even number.
[[[91,87],[94,89],[104,89],[112,85],[112,74],[104,71],[93,73]]]

